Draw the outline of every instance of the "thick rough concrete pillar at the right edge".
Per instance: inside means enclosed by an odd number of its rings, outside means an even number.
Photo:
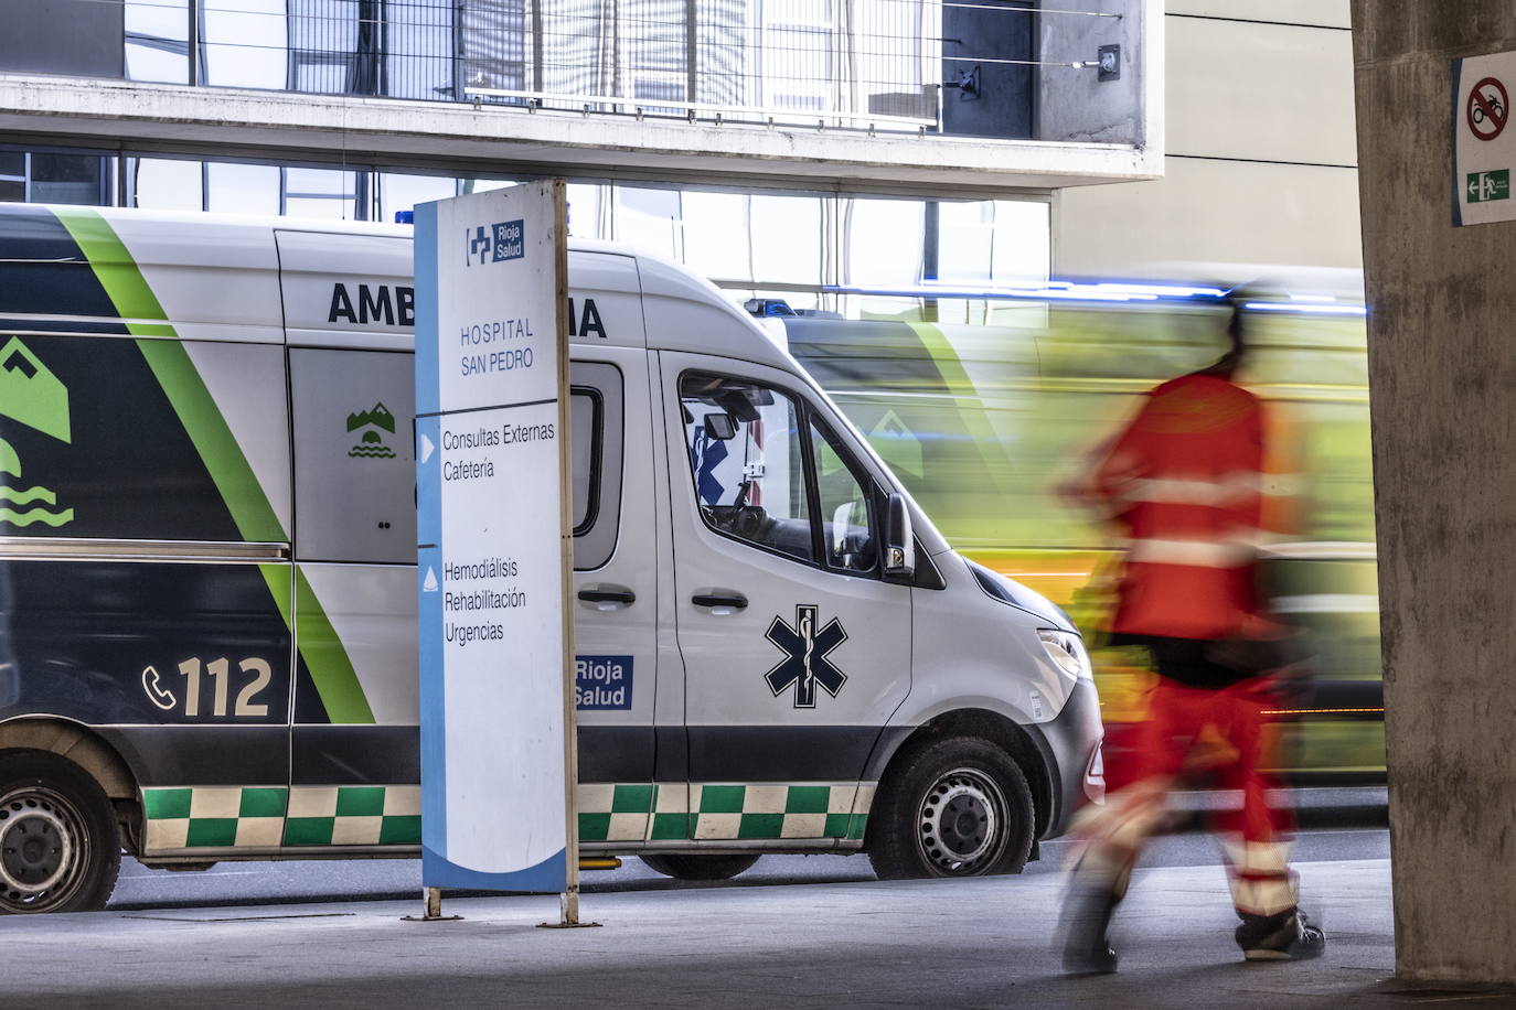
[[[1352,27],[1396,969],[1513,981],[1516,221],[1452,226],[1451,62],[1516,50],[1516,5]]]

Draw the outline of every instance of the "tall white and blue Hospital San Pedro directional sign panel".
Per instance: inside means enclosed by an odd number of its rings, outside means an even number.
[[[565,892],[562,188],[415,210],[421,883]]]

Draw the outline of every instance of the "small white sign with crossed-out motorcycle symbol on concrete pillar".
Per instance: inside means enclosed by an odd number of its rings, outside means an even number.
[[[1452,61],[1452,223],[1516,220],[1516,53]]]

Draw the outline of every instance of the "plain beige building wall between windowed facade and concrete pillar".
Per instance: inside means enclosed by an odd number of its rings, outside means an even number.
[[[1055,273],[1358,268],[1348,0],[1172,0],[1163,27],[1164,177],[1063,191]]]

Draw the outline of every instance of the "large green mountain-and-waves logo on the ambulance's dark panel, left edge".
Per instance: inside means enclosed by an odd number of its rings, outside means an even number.
[[[5,347],[0,347],[0,416],[61,442],[73,442],[73,430],[68,426],[68,388],[18,336],[12,336]],[[5,475],[21,479],[21,456],[14,445],[0,438],[0,477]],[[58,495],[47,488],[0,483],[0,525],[44,522],[56,528],[73,522],[74,510],[56,510],[56,506]]]

